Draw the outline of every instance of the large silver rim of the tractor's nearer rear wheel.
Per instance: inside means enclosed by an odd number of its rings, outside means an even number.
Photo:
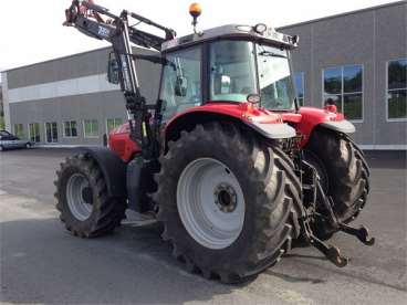
[[[200,158],[181,172],[177,208],[189,235],[209,249],[225,249],[240,235],[244,198],[238,179],[222,162]]]

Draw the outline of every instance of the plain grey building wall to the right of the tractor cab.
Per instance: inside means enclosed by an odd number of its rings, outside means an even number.
[[[322,71],[330,66],[362,64],[363,122],[354,123],[358,144],[407,145],[407,122],[387,122],[386,62],[407,57],[407,3],[405,1],[333,18],[284,27],[300,35],[293,65],[304,72],[305,105],[322,105]]]

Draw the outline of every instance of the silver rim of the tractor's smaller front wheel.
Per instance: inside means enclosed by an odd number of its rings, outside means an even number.
[[[90,196],[86,198],[86,192],[90,191],[88,180],[82,173],[74,173],[67,180],[66,201],[72,214],[77,220],[84,221],[92,213],[92,199]]]

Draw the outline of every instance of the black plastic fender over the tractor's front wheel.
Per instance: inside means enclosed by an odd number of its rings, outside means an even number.
[[[80,147],[80,152],[96,161],[106,181],[109,197],[127,197],[126,164],[115,151],[106,147]]]

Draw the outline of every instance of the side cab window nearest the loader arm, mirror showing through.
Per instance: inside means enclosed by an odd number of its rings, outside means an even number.
[[[200,46],[166,55],[159,98],[164,120],[202,103]]]

